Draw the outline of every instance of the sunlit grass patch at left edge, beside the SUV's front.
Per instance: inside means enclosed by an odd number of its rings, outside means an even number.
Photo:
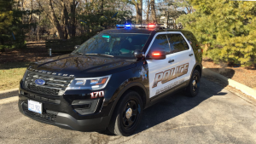
[[[6,62],[0,64],[0,90],[19,88],[29,62]]]

